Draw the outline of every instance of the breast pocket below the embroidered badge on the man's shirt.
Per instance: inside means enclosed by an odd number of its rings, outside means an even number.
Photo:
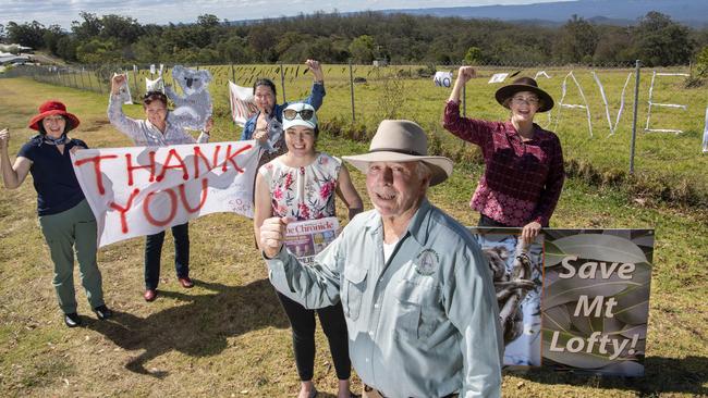
[[[430,278],[414,283],[403,279],[396,286],[394,296],[401,306],[395,325],[400,335],[408,339],[428,339],[442,316],[435,281]]]

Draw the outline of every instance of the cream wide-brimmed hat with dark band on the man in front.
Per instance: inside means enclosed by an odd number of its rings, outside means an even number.
[[[428,136],[417,123],[386,120],[379,124],[369,152],[342,157],[366,174],[371,162],[424,162],[430,167],[430,186],[438,185],[452,174],[452,161],[445,157],[428,156]]]

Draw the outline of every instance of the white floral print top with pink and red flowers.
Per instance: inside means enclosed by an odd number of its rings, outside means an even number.
[[[304,167],[285,165],[278,157],[258,169],[270,189],[273,216],[300,221],[334,216],[339,158],[320,152]]]

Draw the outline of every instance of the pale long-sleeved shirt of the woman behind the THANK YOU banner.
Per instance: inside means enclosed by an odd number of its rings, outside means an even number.
[[[172,124],[170,113],[168,113],[164,134],[148,120],[129,117],[123,113],[123,104],[118,96],[111,95],[108,100],[108,120],[138,147],[168,147],[170,145],[206,144],[209,141],[209,135],[204,132],[195,140],[184,128]]]

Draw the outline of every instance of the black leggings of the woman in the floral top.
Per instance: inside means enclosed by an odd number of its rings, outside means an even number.
[[[346,321],[342,303],[318,310],[308,310],[300,303],[283,296],[280,291],[278,298],[285,310],[290,325],[293,328],[293,351],[300,380],[313,380],[315,368],[315,311],[319,315],[319,323],[329,341],[332,353],[337,378],[347,380],[352,374],[352,362],[349,358],[349,336],[346,335]]]

